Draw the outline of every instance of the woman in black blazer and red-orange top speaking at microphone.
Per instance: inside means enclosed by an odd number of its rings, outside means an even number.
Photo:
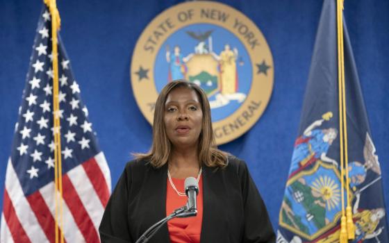
[[[245,162],[216,149],[200,87],[167,84],[156,101],[151,151],[129,162],[108,201],[101,242],[135,242],[186,203],[185,178],[199,182],[197,216],[172,219],[149,242],[275,242]]]

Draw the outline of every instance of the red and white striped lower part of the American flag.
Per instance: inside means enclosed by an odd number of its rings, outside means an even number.
[[[99,242],[99,224],[110,195],[104,153],[63,175],[63,231],[66,242]],[[55,242],[54,183],[24,196],[8,160],[1,215],[1,242]]]

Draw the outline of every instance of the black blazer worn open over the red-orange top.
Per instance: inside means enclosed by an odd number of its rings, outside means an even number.
[[[275,242],[265,204],[247,165],[229,157],[224,169],[203,167],[201,242]],[[167,164],[154,169],[143,160],[127,163],[99,227],[101,242],[136,242],[166,217]],[[169,242],[167,226],[150,240]]]

